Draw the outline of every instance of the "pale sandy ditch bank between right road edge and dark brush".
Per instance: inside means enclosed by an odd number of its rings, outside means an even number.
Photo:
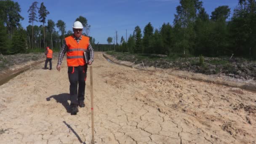
[[[160,64],[160,66],[159,65],[152,66],[152,64],[150,64],[151,67],[149,67],[149,63],[150,63],[149,61],[143,61],[143,63],[142,62],[138,63],[138,62],[130,62],[130,61],[120,61],[116,58],[116,56],[111,56],[106,53],[104,53],[103,55],[106,59],[109,59],[117,64],[125,65],[127,67],[134,67],[137,69],[144,69],[144,70],[154,70],[154,69],[163,70],[163,68],[164,68],[164,71],[171,75],[176,75],[176,76],[183,77],[183,78],[189,78],[192,80],[200,80],[200,81],[209,82],[209,83],[227,85],[227,86],[234,87],[234,88],[243,88],[243,89],[246,89],[249,91],[256,92],[255,77],[246,79],[243,76],[241,76],[242,78],[237,78],[237,77],[230,77],[230,75],[226,75],[225,73],[221,73],[218,75],[213,75],[213,74],[205,75],[202,73],[195,72],[196,69],[198,68],[198,66],[197,66],[197,68],[194,68],[194,70],[192,70],[192,71],[190,70],[190,72],[189,72],[188,69],[191,69],[191,67],[189,67],[189,66],[184,68],[183,70],[179,70],[177,68],[168,68],[168,64],[167,64],[167,66],[165,65],[166,63],[168,63],[166,61],[164,62],[165,64],[162,63],[163,65],[161,65],[160,62],[158,61],[156,63]],[[165,67],[163,67],[164,65],[165,65]],[[249,67],[248,65],[249,64],[247,64],[247,67]],[[251,63],[250,65],[253,69],[254,63]],[[161,68],[159,68],[159,67],[161,67]],[[244,66],[244,67],[246,67],[246,66]],[[223,70],[223,71],[225,71],[225,70]],[[246,75],[246,74],[244,74],[244,75]],[[255,75],[255,74],[253,74],[253,75]]]

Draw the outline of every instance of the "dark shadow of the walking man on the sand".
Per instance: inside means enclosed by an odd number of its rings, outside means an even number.
[[[70,113],[70,108],[69,108],[69,103],[68,100],[70,100],[70,95],[69,93],[61,93],[58,95],[53,95],[48,98],[46,98],[46,101],[51,101],[51,98],[55,99],[56,102],[59,102],[65,107],[68,113]]]

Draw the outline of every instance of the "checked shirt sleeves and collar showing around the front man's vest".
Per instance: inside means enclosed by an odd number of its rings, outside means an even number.
[[[74,39],[77,40],[77,43],[79,43],[80,40],[82,40],[82,36],[81,37],[74,36]],[[62,60],[63,60],[64,54],[66,52],[67,52],[67,44],[66,44],[66,41],[64,40],[64,44],[62,45],[61,51],[59,52],[58,64],[62,64]],[[91,46],[90,41],[89,41],[89,46],[88,46],[86,52],[90,53],[90,61],[93,61],[94,51],[93,51],[93,47]]]

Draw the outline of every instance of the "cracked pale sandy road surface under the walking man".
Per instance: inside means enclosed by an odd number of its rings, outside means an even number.
[[[70,115],[66,61],[44,63],[0,86],[1,144],[90,144],[90,73],[85,108]],[[56,60],[53,60],[53,67]],[[93,62],[96,144],[256,144],[256,93]]]

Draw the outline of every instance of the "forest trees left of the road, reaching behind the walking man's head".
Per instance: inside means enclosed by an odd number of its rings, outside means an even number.
[[[30,5],[27,10],[29,25],[24,28],[20,24],[24,17],[20,15],[19,3],[12,0],[0,0],[0,53],[44,51],[47,46],[59,51],[63,45],[64,37],[73,34],[70,30],[66,31],[66,23],[63,20],[46,20],[50,12],[44,3],[41,3],[40,7],[38,5],[36,1]],[[74,19],[74,21],[77,20],[83,24],[83,35],[89,36],[91,26],[87,19],[79,16]],[[41,25],[37,26],[34,24],[35,22],[40,22]],[[90,41],[94,44],[95,38],[90,37]]]

